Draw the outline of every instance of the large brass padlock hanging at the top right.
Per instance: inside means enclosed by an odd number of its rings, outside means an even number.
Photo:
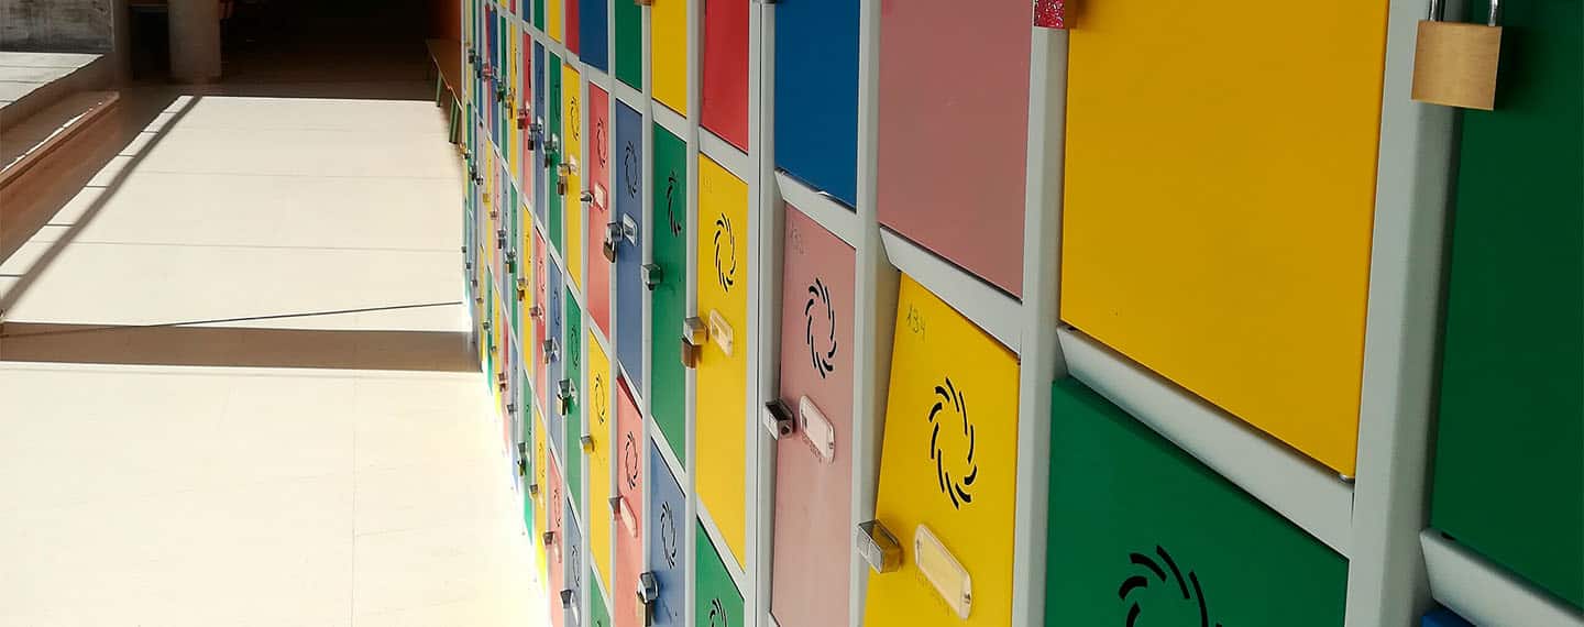
[[[1441,21],[1441,0],[1430,0],[1430,19],[1419,22],[1413,52],[1413,95],[1419,103],[1465,109],[1495,108],[1495,74],[1502,60],[1500,0],[1491,0],[1486,25]]]

